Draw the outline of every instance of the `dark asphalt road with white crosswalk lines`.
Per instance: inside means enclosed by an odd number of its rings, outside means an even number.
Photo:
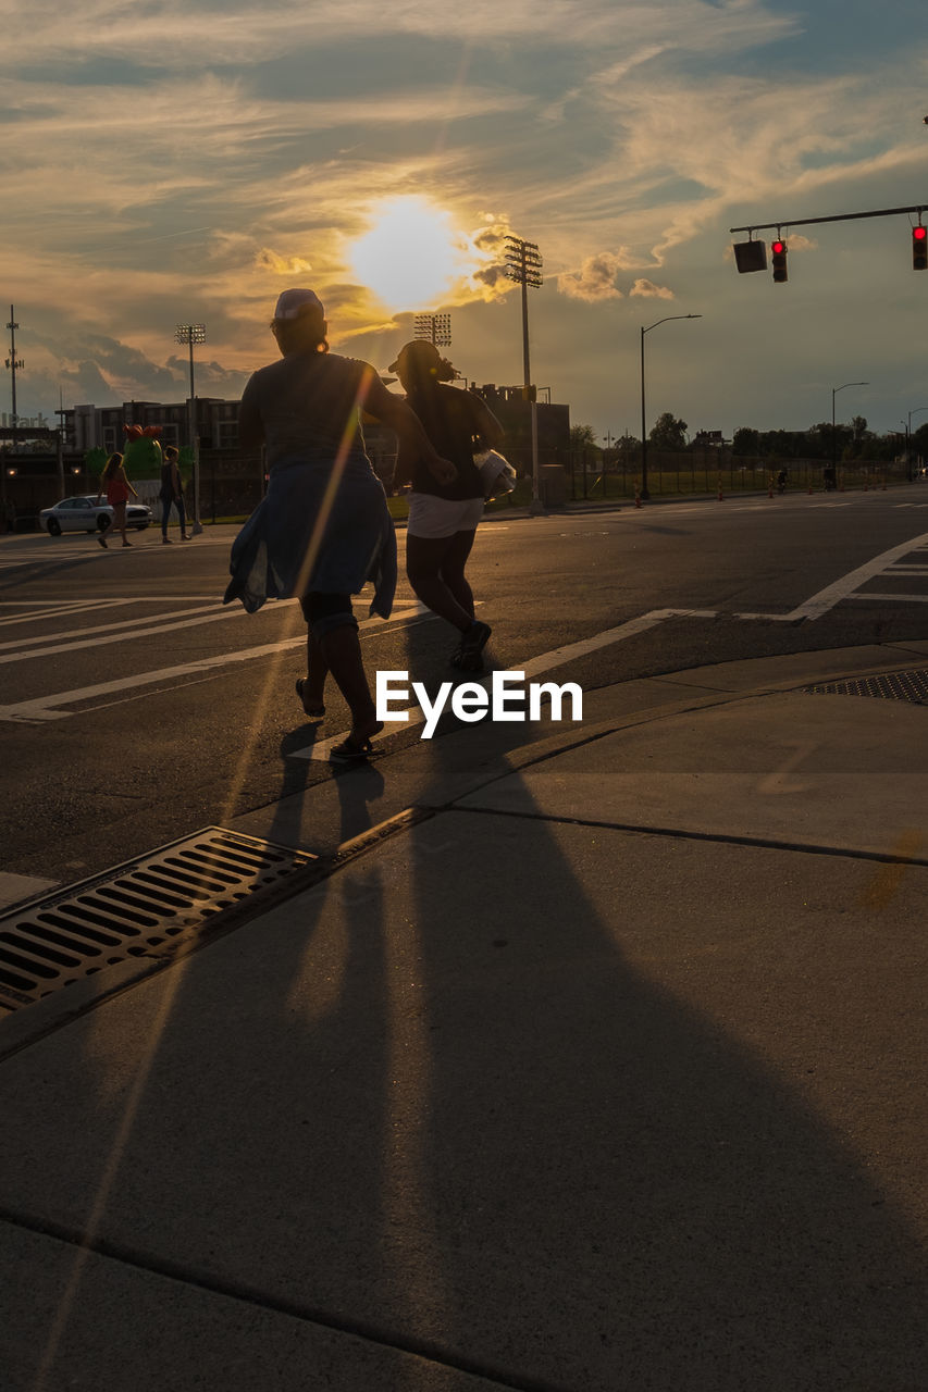
[[[323,742],[347,714],[332,690],[326,724],[302,721],[298,607],[220,603],[234,530],[163,547],[150,529],[109,551],[84,535],[0,537],[4,870],[71,883],[333,777]],[[928,484],[502,514],[470,574],[492,664],[531,661],[584,690],[924,639]],[[408,671],[429,690],[450,677],[454,638],[404,582],[390,622],[362,626],[372,674]],[[400,725],[389,748],[419,735]],[[314,738],[320,757],[305,757]]]

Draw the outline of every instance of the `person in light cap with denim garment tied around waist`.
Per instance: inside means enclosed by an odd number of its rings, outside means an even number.
[[[224,603],[254,612],[266,599],[295,596],[307,621],[304,711],[325,714],[330,671],[351,711],[351,734],[330,757],[366,759],[380,731],[361,658],[351,596],[373,582],[371,612],[387,618],[396,589],[396,535],[383,484],[371,466],[361,412],[390,426],[401,450],[435,477],[454,477],[412,411],[369,363],[329,352],[325,310],[312,290],[287,290],[270,324],[280,361],[261,367],[242,394],[245,450],[266,445],[269,483],[231,550]]]

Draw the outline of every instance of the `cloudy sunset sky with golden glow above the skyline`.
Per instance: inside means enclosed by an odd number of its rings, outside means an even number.
[[[198,395],[238,397],[291,285],[323,299],[333,351],[385,370],[414,310],[449,312],[458,370],[517,384],[511,232],[543,256],[532,377],[602,438],[640,433],[641,327],[690,313],[647,335],[648,426],[803,429],[867,380],[837,419],[899,429],[928,406],[910,219],[789,220],[928,206],[924,17],[924,0],[0,0],[18,412],[183,401],[184,322],[206,326]],[[738,276],[729,228],[778,221],[789,283]]]

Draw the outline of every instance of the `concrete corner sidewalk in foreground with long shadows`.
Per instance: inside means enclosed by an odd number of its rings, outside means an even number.
[[[924,1388],[928,711],[805,688],[927,667],[628,682],[240,818],[382,834],[3,1022],[4,1389]]]

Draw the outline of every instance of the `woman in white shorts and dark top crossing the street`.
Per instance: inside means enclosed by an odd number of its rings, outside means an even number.
[[[405,344],[389,370],[397,373],[438,454],[457,468],[451,483],[439,483],[421,464],[411,470],[405,574],[417,597],[461,635],[451,663],[464,671],[481,671],[490,626],[474,618],[474,594],[464,574],[484,515],[484,482],[474,451],[496,448],[503,427],[479,397],[447,386],[457,373],[428,340]],[[405,479],[400,457],[397,480]]]

